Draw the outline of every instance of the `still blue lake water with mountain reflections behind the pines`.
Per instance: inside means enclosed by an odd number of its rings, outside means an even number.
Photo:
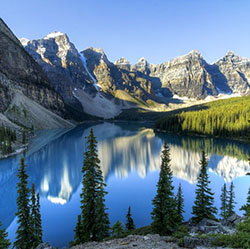
[[[111,224],[125,222],[128,206],[137,227],[150,224],[151,201],[156,193],[160,154],[167,139],[175,188],[182,184],[185,219],[191,217],[196,178],[202,150],[209,157],[209,176],[219,207],[224,182],[235,185],[236,211],[245,203],[250,178],[247,143],[155,133],[144,123],[92,123],[73,130],[41,131],[25,154],[29,182],[41,196],[43,240],[59,248],[73,239],[80,214],[81,168],[85,137],[90,128],[98,140],[101,168],[107,183],[106,206]],[[16,183],[20,155],[0,161],[0,220],[11,241],[17,222]]]

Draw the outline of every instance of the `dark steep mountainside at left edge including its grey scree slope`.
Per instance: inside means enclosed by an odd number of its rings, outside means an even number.
[[[46,73],[0,19],[0,121],[8,126],[72,126]]]

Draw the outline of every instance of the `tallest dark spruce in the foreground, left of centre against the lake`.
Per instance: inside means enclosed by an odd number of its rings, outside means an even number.
[[[84,153],[84,163],[82,168],[82,193],[81,193],[81,217],[82,236],[81,242],[99,241],[109,236],[109,218],[105,207],[104,183],[100,160],[97,154],[97,141],[90,130],[87,137],[88,148]],[[76,231],[77,233],[80,231]]]

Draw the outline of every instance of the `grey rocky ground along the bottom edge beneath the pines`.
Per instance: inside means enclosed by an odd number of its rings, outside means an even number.
[[[188,234],[182,238],[171,236],[160,236],[158,234],[128,235],[124,238],[115,238],[103,242],[87,242],[71,247],[70,249],[222,249],[213,246],[217,234],[233,234],[236,232],[236,225],[244,220],[236,214],[228,219],[214,221],[203,219],[199,224],[192,225],[189,222],[184,224],[188,228]],[[223,247],[224,249],[230,249]],[[36,249],[56,249],[48,243],[40,244]],[[64,249],[69,249],[65,247]]]

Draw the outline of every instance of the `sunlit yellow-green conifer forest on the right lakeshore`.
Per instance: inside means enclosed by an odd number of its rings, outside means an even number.
[[[156,129],[222,137],[250,134],[250,97],[217,100],[181,113],[168,114],[155,122]]]

